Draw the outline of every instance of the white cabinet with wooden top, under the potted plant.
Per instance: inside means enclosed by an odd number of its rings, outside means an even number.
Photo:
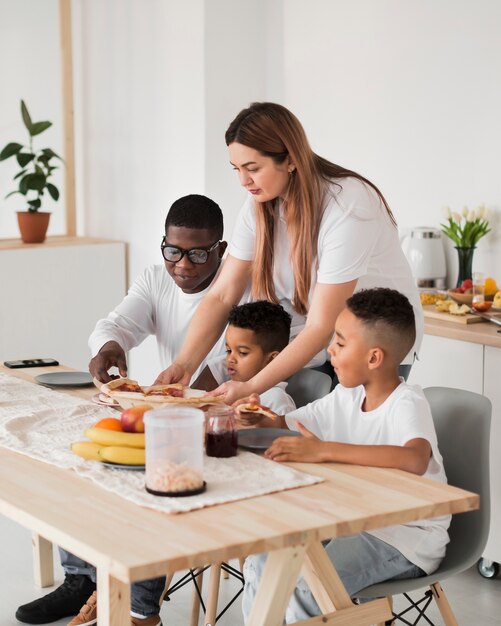
[[[96,322],[126,292],[125,244],[0,241],[0,360],[53,357],[87,370]]]

